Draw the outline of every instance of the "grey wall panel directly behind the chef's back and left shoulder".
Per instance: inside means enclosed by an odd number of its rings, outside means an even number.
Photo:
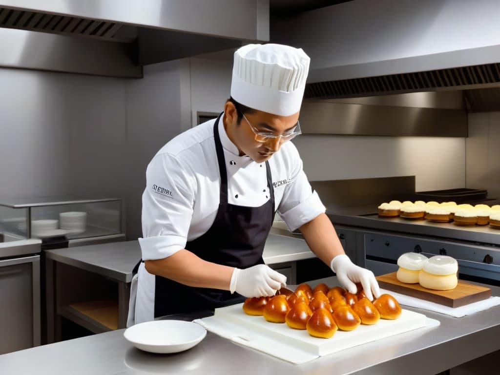
[[[181,79],[183,77],[183,79]],[[144,66],[144,78],[126,86],[126,134],[123,193],[127,202],[127,237],[142,236],[140,214],[146,167],[156,152],[190,127],[187,59]]]

